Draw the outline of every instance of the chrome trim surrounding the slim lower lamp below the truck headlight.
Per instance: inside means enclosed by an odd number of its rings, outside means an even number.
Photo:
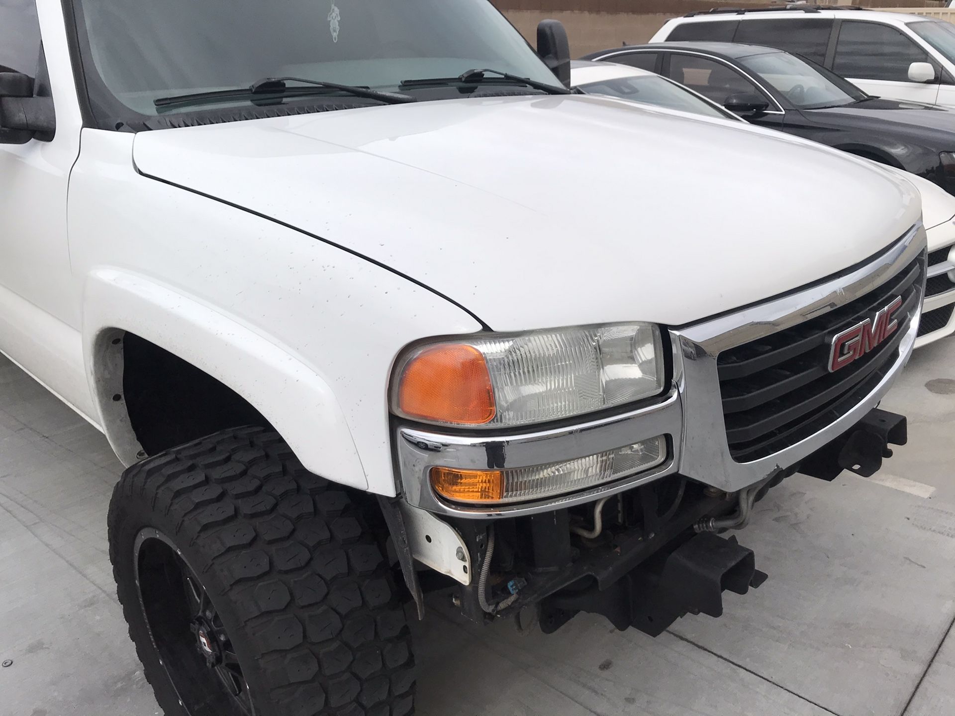
[[[467,506],[438,498],[428,479],[435,466],[473,470],[520,468],[572,460],[632,445],[659,435],[679,445],[683,428],[683,406],[676,390],[656,405],[622,415],[592,420],[556,430],[520,435],[448,435],[401,427],[395,432],[397,459],[405,499],[414,507],[461,517],[520,516],[555,510],[615,495],[675,470],[673,454],[660,466],[644,473],[591,488],[584,492],[548,497],[534,502],[509,505]],[[672,448],[671,448],[672,450]]]

